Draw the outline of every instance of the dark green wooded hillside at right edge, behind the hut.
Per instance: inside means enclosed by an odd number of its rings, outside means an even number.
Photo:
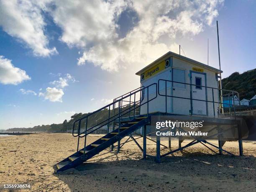
[[[256,95],[256,69],[239,74],[232,73],[229,77],[222,79],[223,89],[237,91],[240,100],[250,100]]]

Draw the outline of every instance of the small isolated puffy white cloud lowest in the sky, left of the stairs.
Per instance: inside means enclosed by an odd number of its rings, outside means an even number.
[[[47,87],[46,92],[39,92],[39,97],[44,97],[45,100],[51,102],[62,102],[62,96],[64,92],[62,89],[57,89],[56,87]]]

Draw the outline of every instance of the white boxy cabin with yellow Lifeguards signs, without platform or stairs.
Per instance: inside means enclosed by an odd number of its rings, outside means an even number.
[[[214,103],[213,108],[213,104],[207,100],[212,101],[215,98],[215,101],[219,102],[217,98],[220,73],[222,71],[219,69],[169,51],[136,75],[141,77],[141,87],[152,83],[159,85],[159,96],[151,102],[149,113],[214,117],[218,114],[218,103]],[[152,95],[154,89],[151,88],[149,97]],[[141,114],[146,114],[146,106],[141,108]]]

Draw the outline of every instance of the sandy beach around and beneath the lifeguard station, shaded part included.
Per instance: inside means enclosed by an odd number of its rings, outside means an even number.
[[[87,141],[97,138],[90,136]],[[142,146],[141,138],[138,142]],[[148,154],[155,154],[155,143],[147,142]],[[177,145],[172,141],[173,148]],[[256,191],[254,141],[243,142],[242,157],[216,155],[198,143],[162,158],[159,164],[152,158],[141,160],[141,151],[131,141],[119,154],[108,148],[75,169],[54,174],[54,164],[73,154],[76,147],[77,138],[67,133],[1,137],[0,186],[29,183],[32,191],[65,192]],[[223,148],[239,154],[238,142],[227,142]]]

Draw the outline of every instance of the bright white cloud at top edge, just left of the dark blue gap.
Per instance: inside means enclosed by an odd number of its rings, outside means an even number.
[[[124,0],[62,0],[55,5],[51,15],[63,31],[60,40],[70,47],[117,37],[113,21],[126,7]]]

